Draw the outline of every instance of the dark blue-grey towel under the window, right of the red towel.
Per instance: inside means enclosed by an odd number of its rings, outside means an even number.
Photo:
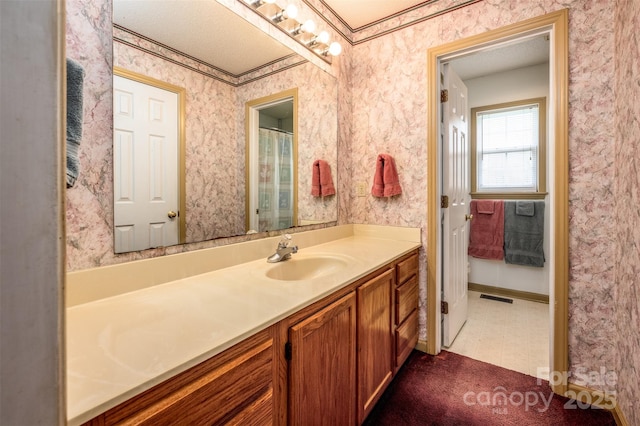
[[[504,203],[504,261],[544,266],[544,201],[531,201],[533,215],[517,213],[517,201]]]

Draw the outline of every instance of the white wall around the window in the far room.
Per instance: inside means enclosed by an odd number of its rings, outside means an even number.
[[[469,90],[470,108],[523,99],[548,97],[549,66],[548,64],[535,65],[467,80],[464,83]],[[547,129],[548,128],[549,126],[547,125]],[[547,138],[547,155],[549,152],[550,149]],[[549,164],[548,161],[547,164]],[[550,187],[549,176],[547,175],[547,189]],[[545,201],[544,253],[548,260],[550,253],[549,195],[547,195]],[[510,290],[549,294],[548,261],[543,268],[536,268],[509,265],[502,260],[485,260],[469,257],[469,264],[471,271],[469,274],[469,282]]]

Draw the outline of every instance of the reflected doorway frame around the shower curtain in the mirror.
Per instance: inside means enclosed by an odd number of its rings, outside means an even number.
[[[252,137],[256,137],[252,129],[258,129],[258,113],[260,107],[266,107],[270,104],[278,103],[279,101],[285,101],[287,99],[293,100],[293,224],[291,227],[298,226],[298,88],[284,90],[279,93],[264,96],[262,98],[253,99],[245,103],[245,120],[244,120],[244,135],[245,135],[245,232],[250,230],[251,227],[251,140]],[[256,132],[257,133],[257,132]],[[290,228],[291,228],[290,227]],[[283,229],[290,229],[283,228]],[[269,231],[279,231],[280,229],[270,229]]]

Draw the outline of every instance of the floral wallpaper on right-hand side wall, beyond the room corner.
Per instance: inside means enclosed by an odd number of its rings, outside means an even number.
[[[616,3],[614,306],[618,404],[628,424],[640,424],[640,3]]]

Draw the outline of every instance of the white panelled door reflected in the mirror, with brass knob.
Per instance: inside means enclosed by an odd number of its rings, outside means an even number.
[[[178,94],[113,80],[115,252],[178,244]]]

